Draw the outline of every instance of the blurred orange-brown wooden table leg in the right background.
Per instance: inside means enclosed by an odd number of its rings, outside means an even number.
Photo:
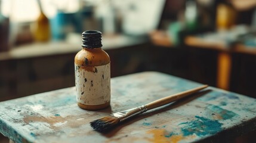
[[[232,58],[229,52],[220,52],[220,54],[218,54],[217,62],[217,87],[229,90],[229,81],[232,66]]]

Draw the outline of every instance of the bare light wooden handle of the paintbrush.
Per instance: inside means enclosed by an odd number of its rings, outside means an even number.
[[[180,100],[183,97],[187,97],[188,95],[191,95],[191,94],[198,92],[201,89],[204,89],[207,87],[208,87],[208,85],[202,85],[202,86],[199,86],[198,88],[189,89],[187,91],[183,91],[178,94],[169,95],[168,97],[164,97],[159,100],[150,102],[150,103],[146,104],[147,110],[150,110],[150,109],[153,109],[156,107],[160,107],[160,106],[168,104],[172,101]]]

